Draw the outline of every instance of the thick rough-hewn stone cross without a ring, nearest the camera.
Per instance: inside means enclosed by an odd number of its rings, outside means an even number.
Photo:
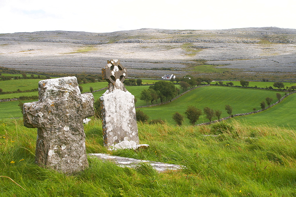
[[[39,81],[39,101],[24,104],[24,126],[38,128],[35,163],[72,174],[88,167],[83,119],[94,96],[81,94],[76,77]]]

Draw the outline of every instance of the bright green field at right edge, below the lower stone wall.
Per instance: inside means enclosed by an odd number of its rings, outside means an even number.
[[[291,94],[280,104],[275,105],[263,112],[243,117],[234,117],[242,123],[252,125],[272,125],[279,127],[292,127],[296,129],[296,94]]]

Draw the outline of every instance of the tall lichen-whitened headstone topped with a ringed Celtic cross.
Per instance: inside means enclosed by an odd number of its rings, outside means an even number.
[[[126,69],[118,59],[111,59],[102,69],[102,76],[109,82],[100,97],[104,146],[135,148],[139,144],[135,97],[123,85]]]

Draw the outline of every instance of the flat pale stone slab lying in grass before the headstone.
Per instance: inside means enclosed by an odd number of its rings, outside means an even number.
[[[168,169],[177,170],[177,169],[184,168],[184,166],[175,165],[175,164],[166,164],[166,163],[161,163],[161,162],[151,162],[151,161],[148,161],[148,160],[120,157],[120,156],[114,156],[114,155],[103,154],[103,153],[91,153],[89,155],[96,156],[97,158],[102,159],[103,161],[106,161],[106,160],[114,161],[115,164],[117,164],[120,167],[134,168],[134,167],[136,167],[136,165],[138,165],[140,163],[149,163],[158,172],[164,172],[164,171],[166,171]]]

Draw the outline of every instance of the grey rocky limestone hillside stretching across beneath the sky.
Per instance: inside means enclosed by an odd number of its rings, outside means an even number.
[[[276,27],[0,34],[0,66],[43,72],[100,73],[107,59],[120,59],[131,75],[199,75],[190,70],[198,61],[248,75],[293,74],[295,55],[296,29]],[[172,71],[153,70],[163,67]]]

